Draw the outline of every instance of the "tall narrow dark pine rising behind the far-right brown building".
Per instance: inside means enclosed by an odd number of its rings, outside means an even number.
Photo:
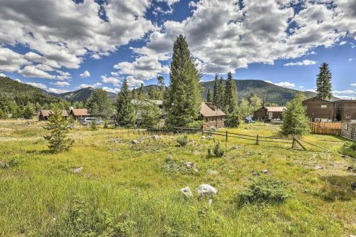
[[[318,93],[317,97],[323,100],[330,100],[333,96],[331,93],[333,85],[331,85],[332,74],[328,63],[323,63],[320,65],[320,72],[316,80],[316,91]]]

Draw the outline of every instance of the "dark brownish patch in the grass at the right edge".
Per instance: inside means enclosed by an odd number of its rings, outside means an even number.
[[[320,196],[325,201],[351,201],[356,199],[356,191],[352,191],[351,184],[356,182],[355,175],[321,177],[325,186],[320,189]]]

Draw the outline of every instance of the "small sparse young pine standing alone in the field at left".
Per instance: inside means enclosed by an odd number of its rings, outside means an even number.
[[[49,142],[49,149],[54,153],[65,152],[72,147],[74,140],[68,138],[70,124],[62,115],[62,110],[54,108],[53,114],[48,119],[48,124],[44,127],[51,133],[44,138]]]

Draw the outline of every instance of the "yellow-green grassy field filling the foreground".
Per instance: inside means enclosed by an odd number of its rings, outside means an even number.
[[[178,135],[153,139],[145,132],[77,126],[70,132],[73,149],[51,154],[42,125],[0,122],[0,236],[356,234],[356,192],[350,187],[356,173],[347,171],[356,164],[337,152],[345,142],[340,137],[303,138],[330,152],[229,139],[228,152],[217,158],[207,150],[217,140],[224,147],[224,137],[189,135],[187,147],[178,147]],[[278,130],[256,124],[229,131],[277,136]],[[194,162],[196,170],[183,162]],[[73,172],[78,167],[83,169]],[[290,197],[281,204],[238,205],[236,196],[265,176],[284,181]],[[219,194],[199,197],[194,189],[201,184]],[[193,199],[179,193],[185,186]]]

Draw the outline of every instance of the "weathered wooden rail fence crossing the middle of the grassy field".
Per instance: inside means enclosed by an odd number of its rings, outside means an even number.
[[[230,138],[237,138],[237,139],[246,139],[250,141],[256,142],[256,144],[259,144],[260,142],[274,142],[278,144],[290,144],[292,149],[297,148],[297,144],[299,144],[300,147],[302,147],[304,150],[306,150],[305,146],[302,143],[309,144],[310,146],[313,147],[318,147],[319,149],[323,149],[325,151],[328,151],[328,149],[325,149],[323,147],[320,147],[316,144],[312,144],[310,142],[305,142],[302,139],[298,139],[296,137],[293,138],[288,138],[288,137],[260,137],[259,135],[244,135],[244,134],[239,134],[235,132],[227,132],[227,131],[211,131],[211,130],[201,130],[201,129],[194,129],[194,128],[184,128],[184,127],[175,127],[172,129],[155,129],[155,128],[148,128],[148,132],[159,132],[159,133],[197,133],[201,132],[201,135],[216,135],[216,136],[221,136],[225,137],[225,149],[227,150],[227,141]]]

